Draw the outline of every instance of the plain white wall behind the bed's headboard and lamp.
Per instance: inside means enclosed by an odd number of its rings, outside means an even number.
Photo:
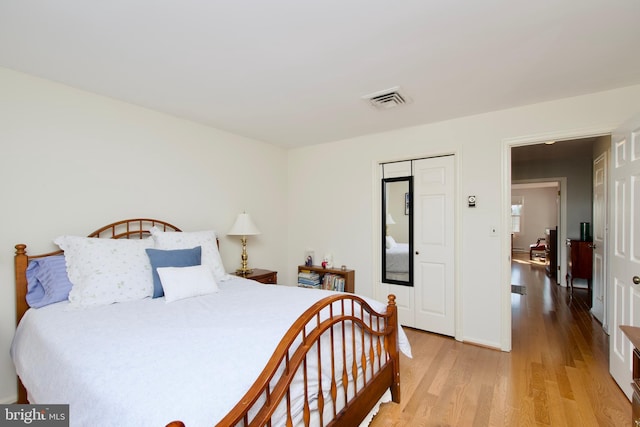
[[[246,209],[262,231],[250,265],[284,273],[284,150],[2,68],[0,94],[0,403],[16,397],[17,243],[43,253],[60,234],[151,217],[221,232],[234,270],[240,243],[226,232]]]

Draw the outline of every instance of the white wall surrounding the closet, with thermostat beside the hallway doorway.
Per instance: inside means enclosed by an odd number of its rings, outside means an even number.
[[[613,129],[640,110],[638,99],[640,86],[633,86],[290,151],[287,280],[293,282],[305,248],[313,248],[316,254],[330,251],[337,265],[355,269],[356,292],[376,294],[380,185],[373,179],[375,164],[456,152],[458,338],[504,348],[511,333],[501,317],[510,271],[504,145]],[[372,112],[371,120],[384,120],[387,113],[399,110]],[[467,195],[477,196],[476,208],[466,207]],[[331,209],[324,208],[327,201]],[[494,226],[501,230],[498,237],[489,235]]]

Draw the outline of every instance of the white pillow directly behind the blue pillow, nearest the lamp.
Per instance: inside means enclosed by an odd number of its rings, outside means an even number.
[[[174,232],[151,227],[150,232],[156,249],[191,249],[200,246],[202,248],[202,265],[211,269],[214,279],[222,282],[230,278],[222,265],[215,231]]]

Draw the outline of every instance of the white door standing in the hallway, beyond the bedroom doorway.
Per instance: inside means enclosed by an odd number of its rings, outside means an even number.
[[[607,153],[593,161],[593,301],[591,313],[607,330],[605,317],[605,264],[607,237]]]

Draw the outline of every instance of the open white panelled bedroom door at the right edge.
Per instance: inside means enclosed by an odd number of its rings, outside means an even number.
[[[640,326],[640,116],[612,135],[609,371],[631,399],[632,345],[620,325]]]

